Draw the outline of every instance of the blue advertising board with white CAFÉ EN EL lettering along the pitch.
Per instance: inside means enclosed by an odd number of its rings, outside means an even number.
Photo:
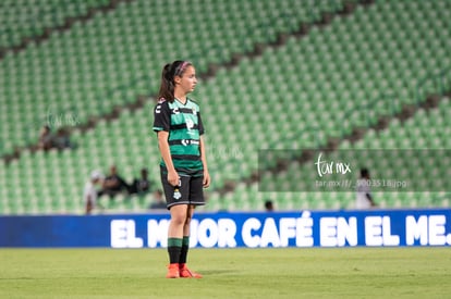
[[[0,216],[1,247],[166,247],[169,215]],[[451,210],[198,213],[192,247],[449,246]]]

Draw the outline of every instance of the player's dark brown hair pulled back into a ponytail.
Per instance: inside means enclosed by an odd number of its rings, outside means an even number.
[[[161,72],[161,85],[158,91],[158,100],[164,99],[169,102],[174,101],[174,76],[181,76],[186,67],[192,65],[191,62],[176,60],[163,66]]]

